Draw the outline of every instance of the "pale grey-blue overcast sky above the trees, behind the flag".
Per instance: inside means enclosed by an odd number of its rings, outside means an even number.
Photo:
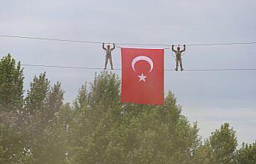
[[[254,0],[1,0],[0,34],[93,42],[196,44],[255,42]],[[131,47],[120,45],[122,47]],[[132,46],[143,48],[167,48]],[[184,69],[255,68],[256,45],[187,47]],[[11,53],[22,64],[104,67],[102,45],[0,37],[0,57]],[[120,49],[113,52],[121,68]],[[166,69],[175,68],[165,50]],[[51,84],[62,83],[72,102],[96,70],[25,67],[25,90],[46,71]],[[121,76],[120,70],[113,70]],[[198,122],[205,139],[224,122],[237,131],[238,142],[256,140],[256,71],[166,71],[165,92],[172,91],[182,114]]]

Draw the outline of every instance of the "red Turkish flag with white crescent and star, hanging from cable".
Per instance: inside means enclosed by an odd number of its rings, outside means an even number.
[[[121,102],[163,105],[163,49],[121,48]]]

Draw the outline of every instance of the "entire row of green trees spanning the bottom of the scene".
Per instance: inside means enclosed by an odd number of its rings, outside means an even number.
[[[0,163],[256,163],[256,143],[238,149],[228,123],[202,141],[172,92],[163,106],[122,104],[119,77],[102,72],[70,105],[46,73],[34,76],[26,96],[23,79],[20,62],[4,56]]]

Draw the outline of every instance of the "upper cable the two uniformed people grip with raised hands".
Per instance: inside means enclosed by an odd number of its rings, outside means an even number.
[[[18,38],[18,39],[37,39],[37,40],[48,40],[48,41],[58,41],[58,42],[79,42],[79,43],[88,43],[88,44],[102,44],[103,42],[93,42],[93,41],[83,41],[83,40],[72,40],[72,39],[53,39],[53,38],[40,38],[40,37],[31,37],[31,36],[10,36],[2,35],[0,37],[7,38]],[[110,42],[106,42],[110,44]],[[172,46],[167,44],[144,44],[144,43],[118,43],[117,45],[143,45],[143,46]],[[226,43],[205,43],[205,44],[187,44],[187,46],[213,46],[213,45],[256,45],[256,42],[226,42]],[[175,45],[177,46],[177,45]]]

